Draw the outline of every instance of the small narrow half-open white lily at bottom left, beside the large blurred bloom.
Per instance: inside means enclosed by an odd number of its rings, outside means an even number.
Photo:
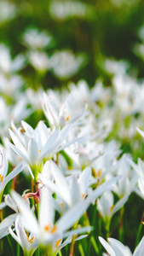
[[[20,244],[20,247],[23,249],[23,253],[25,256],[32,256],[35,250],[38,247],[37,241],[32,234],[27,236],[26,230],[20,222],[20,215],[18,215],[14,222],[14,231],[9,228],[10,235]]]

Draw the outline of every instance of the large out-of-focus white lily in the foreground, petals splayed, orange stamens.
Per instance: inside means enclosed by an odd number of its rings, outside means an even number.
[[[53,247],[53,244],[56,246],[58,241],[67,236],[73,236],[91,230],[90,227],[84,227],[82,229],[67,231],[78,221],[87,207],[89,207],[89,201],[80,202],[77,206],[72,207],[72,209],[67,211],[55,223],[55,210],[52,197],[47,188],[43,187],[41,190],[38,219],[20,195],[15,191],[11,191],[11,195],[19,207],[21,223],[26,230],[32,232],[40,245]]]

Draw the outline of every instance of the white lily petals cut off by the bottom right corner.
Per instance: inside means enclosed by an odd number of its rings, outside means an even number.
[[[110,256],[143,256],[144,237],[142,237],[138,246],[135,248],[134,253],[131,253],[129,247],[124,246],[122,242],[114,238],[107,238],[107,242],[101,236],[99,236],[99,240]]]

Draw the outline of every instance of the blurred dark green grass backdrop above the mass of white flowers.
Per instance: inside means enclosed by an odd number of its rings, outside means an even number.
[[[45,88],[59,87],[69,80],[86,79],[89,86],[102,77],[111,84],[105,72],[106,58],[124,59],[130,62],[130,73],[143,77],[143,61],[133,47],[140,43],[138,30],[144,24],[142,0],[89,0],[89,1],[9,1],[16,6],[14,18],[1,22],[0,41],[7,44],[11,54],[25,53],[22,35],[27,28],[49,32],[53,44],[45,51],[53,55],[55,50],[69,49],[84,55],[84,63],[78,73],[61,79],[48,71],[42,79]],[[1,11],[2,12],[2,9]],[[37,86],[35,71],[28,66],[22,71],[28,84]],[[32,85],[34,84],[34,85]]]

